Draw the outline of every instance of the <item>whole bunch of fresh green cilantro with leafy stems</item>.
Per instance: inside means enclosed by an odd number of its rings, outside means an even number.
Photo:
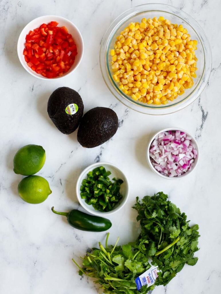
[[[195,265],[198,258],[198,225],[190,228],[185,213],[167,200],[163,192],[153,197],[145,196],[142,201],[136,198],[133,208],[138,212],[141,233],[137,240],[122,246],[108,246],[107,234],[105,248],[92,248],[82,258],[79,275],[96,278],[105,294],[146,294],[156,285],[166,285],[176,276],[185,263]],[[157,265],[160,272],[151,287],[136,288],[135,279],[151,267]]]

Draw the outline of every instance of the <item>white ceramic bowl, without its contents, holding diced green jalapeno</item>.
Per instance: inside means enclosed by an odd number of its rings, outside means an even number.
[[[82,199],[80,196],[80,186],[81,186],[83,179],[87,178],[87,173],[89,173],[89,171],[92,171],[94,168],[96,168],[98,166],[104,166],[104,168],[107,171],[111,172],[111,175],[109,176],[110,180],[112,180],[112,178],[120,178],[124,181],[124,183],[122,183],[122,185],[120,186],[120,193],[122,194],[123,198],[119,201],[119,203],[116,204],[116,206],[114,206],[112,211],[102,212],[102,211],[95,210],[92,205],[88,205],[85,202],[85,199]],[[97,162],[97,163],[94,163],[94,164],[88,166],[87,168],[85,168],[82,171],[82,173],[80,174],[80,176],[77,180],[77,184],[76,184],[76,194],[77,194],[77,199],[78,199],[80,205],[86,211],[90,212],[91,214],[94,214],[95,216],[104,216],[105,217],[105,216],[111,215],[111,214],[119,211],[124,206],[124,204],[126,203],[126,201],[128,199],[128,196],[129,196],[129,184],[128,184],[128,181],[127,181],[125,174],[119,169],[118,166],[116,166],[112,163],[109,163],[109,162]]]

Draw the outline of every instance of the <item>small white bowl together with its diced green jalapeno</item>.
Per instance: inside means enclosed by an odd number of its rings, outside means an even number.
[[[124,206],[129,196],[129,185],[118,166],[97,162],[80,174],[76,194],[86,211],[96,216],[107,216]]]

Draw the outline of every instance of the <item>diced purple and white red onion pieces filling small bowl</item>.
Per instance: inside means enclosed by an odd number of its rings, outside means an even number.
[[[190,171],[197,150],[190,136],[182,131],[159,133],[151,143],[149,150],[153,167],[169,177],[181,176]]]

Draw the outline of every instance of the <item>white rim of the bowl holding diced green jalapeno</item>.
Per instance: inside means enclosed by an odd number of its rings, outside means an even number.
[[[107,211],[107,212],[102,212],[102,211],[92,211],[90,210],[90,205],[88,205],[87,203],[85,203],[85,201],[82,200],[81,196],[80,196],[80,185],[81,185],[81,180],[82,180],[82,177],[83,175],[85,174],[85,172],[93,169],[94,167],[96,166],[102,166],[102,165],[107,165],[107,166],[112,166],[114,167],[115,169],[117,169],[120,173],[123,174],[124,178],[125,178],[125,184],[126,184],[126,188],[127,188],[127,192],[126,194],[123,196],[123,201],[120,203],[120,205],[112,210],[112,211]],[[96,162],[96,163],[93,163],[89,166],[87,166],[86,168],[84,168],[84,170],[80,173],[78,179],[77,179],[77,183],[76,183],[76,195],[77,195],[77,200],[78,202],[80,203],[80,205],[89,213],[95,215],[95,216],[109,216],[109,215],[112,215],[114,213],[116,213],[117,211],[119,211],[122,207],[124,207],[124,205],[126,204],[128,198],[129,198],[129,182],[128,182],[128,179],[125,175],[125,173],[122,171],[122,169],[119,168],[119,166],[113,164],[113,163],[110,163],[110,162],[105,162],[105,161],[102,161],[102,162]]]

